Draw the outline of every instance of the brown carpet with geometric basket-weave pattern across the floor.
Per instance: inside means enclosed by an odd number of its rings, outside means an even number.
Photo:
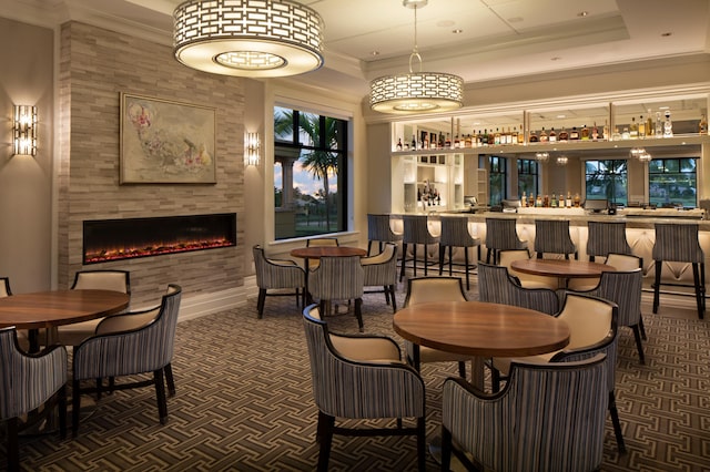
[[[399,290],[404,286],[399,285]],[[471,299],[476,297],[471,285]],[[605,471],[710,470],[710,321],[661,301],[652,315],[645,294],[647,365],[622,329],[617,403],[628,452],[619,454],[607,421]],[[404,294],[398,293],[398,304]],[[79,438],[24,438],[29,471],[308,471],[315,470],[316,409],[300,317],[291,297],[271,297],[262,320],[256,300],[239,309],[179,324],[173,361],[178,393],[162,427],[152,389],[104,397],[81,423]],[[344,307],[341,307],[344,308]],[[388,334],[384,296],[365,296],[367,332]],[[357,331],[351,314],[327,319],[333,330]],[[402,341],[399,339],[399,341]],[[427,435],[440,427],[440,387],[455,366],[426,365]],[[4,445],[0,447],[4,465]],[[416,470],[413,438],[338,438],[333,471]],[[429,455],[427,470],[438,470]]]

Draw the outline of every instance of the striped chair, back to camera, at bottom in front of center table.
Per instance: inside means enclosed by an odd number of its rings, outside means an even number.
[[[609,362],[604,353],[567,363],[516,359],[510,380],[496,396],[462,379],[447,379],[442,470],[449,470],[454,441],[473,455],[475,464],[454,451],[469,470],[599,470]]]

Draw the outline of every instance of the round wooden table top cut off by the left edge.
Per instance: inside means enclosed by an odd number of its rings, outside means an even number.
[[[0,327],[53,328],[120,312],[130,296],[113,290],[50,290],[0,298]]]

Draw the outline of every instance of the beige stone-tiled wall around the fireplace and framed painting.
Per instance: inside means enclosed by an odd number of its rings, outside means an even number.
[[[58,271],[128,269],[132,304],[155,302],[169,283],[184,297],[244,285],[244,93],[237,78],[191,70],[172,49],[87,25],[61,29],[59,72]],[[120,94],[216,109],[215,185],[120,185]],[[84,219],[237,214],[237,246],[82,266]]]

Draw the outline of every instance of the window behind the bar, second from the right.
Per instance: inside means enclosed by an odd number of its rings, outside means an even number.
[[[627,205],[628,181],[626,160],[585,162],[586,198]]]

